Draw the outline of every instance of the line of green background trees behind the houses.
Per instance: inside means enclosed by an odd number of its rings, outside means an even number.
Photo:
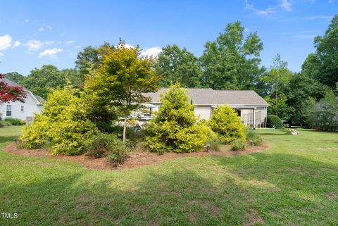
[[[335,15],[325,34],[315,37],[315,52],[308,55],[301,72],[292,73],[279,54],[270,68],[261,66],[263,42],[256,32],[245,35],[241,23],[235,22],[228,24],[215,41],[206,42],[201,57],[194,56],[186,48],[168,45],[158,55],[153,68],[161,77],[161,87],[180,82],[188,88],[253,89],[270,103],[268,113],[277,115],[289,125],[315,126],[308,123],[311,121],[306,110],[309,101],[320,106],[320,100],[327,96],[337,99],[337,37],[338,15]],[[99,68],[104,51],[114,48],[108,43],[88,46],[77,55],[75,69],[58,70],[44,65],[32,70],[27,77],[17,73],[8,73],[7,77],[46,98],[49,89],[57,86],[73,84],[81,88],[89,69]]]

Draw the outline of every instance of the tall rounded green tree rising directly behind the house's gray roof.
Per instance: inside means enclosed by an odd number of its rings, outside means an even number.
[[[240,22],[228,24],[213,42],[206,42],[201,56],[203,81],[213,89],[254,89],[263,73],[260,52],[263,42],[257,33],[244,39]]]

